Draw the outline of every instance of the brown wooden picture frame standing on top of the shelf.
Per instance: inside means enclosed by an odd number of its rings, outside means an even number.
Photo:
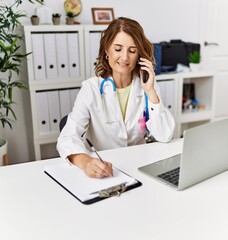
[[[113,8],[91,8],[93,24],[109,24],[114,20]]]

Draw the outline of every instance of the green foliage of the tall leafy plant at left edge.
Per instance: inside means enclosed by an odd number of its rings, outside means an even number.
[[[29,2],[41,3],[40,0]],[[21,3],[22,0],[14,0],[8,5],[0,3],[0,122],[3,128],[6,125],[12,128],[12,122],[17,119],[13,109],[13,89],[27,88],[24,81],[13,80],[19,75],[22,61],[28,55],[21,53],[23,35],[15,32],[20,19],[26,17],[24,12],[15,10]]]

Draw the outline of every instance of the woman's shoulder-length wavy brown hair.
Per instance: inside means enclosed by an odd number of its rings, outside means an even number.
[[[154,47],[152,43],[146,38],[141,25],[133,19],[120,17],[113,20],[109,24],[108,28],[101,34],[100,49],[95,66],[96,76],[106,78],[112,74],[112,69],[109,66],[107,59],[105,58],[105,50],[110,47],[116,35],[121,31],[127,33],[133,38],[138,49],[139,56],[150,60],[155,66]],[[136,64],[132,74],[139,75],[139,73],[140,66]]]

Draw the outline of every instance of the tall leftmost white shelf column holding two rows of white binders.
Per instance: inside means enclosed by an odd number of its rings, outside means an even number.
[[[85,79],[83,26],[24,26],[36,160],[55,143],[59,121],[72,109]]]

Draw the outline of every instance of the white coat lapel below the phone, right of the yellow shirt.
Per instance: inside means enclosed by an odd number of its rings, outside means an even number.
[[[131,92],[128,99],[127,112],[125,116],[125,123],[129,121],[132,114],[135,114],[137,105],[140,104],[140,100],[143,97],[143,89],[141,88],[140,79],[134,78],[132,81]]]

